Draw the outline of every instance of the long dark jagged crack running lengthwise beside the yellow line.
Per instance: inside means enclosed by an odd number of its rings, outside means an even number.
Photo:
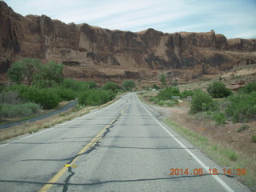
[[[127,106],[123,109],[123,110],[126,110]],[[120,118],[120,116],[122,115],[122,110],[118,113],[118,115],[114,118],[114,121],[111,122],[111,124],[109,123],[108,124],[108,127],[106,127],[104,133],[102,134],[102,137],[99,137],[96,142],[94,142],[94,145],[90,147],[89,150],[86,150],[85,153],[82,153],[82,154],[90,154],[90,152],[92,152],[93,150],[96,149],[97,146],[99,146],[99,143],[101,142],[102,138],[105,138],[106,137],[106,134],[108,134],[110,132],[110,128],[114,127],[114,123],[118,121],[118,118]],[[67,162],[66,164],[70,164],[71,162],[74,161],[74,158],[77,158],[78,156],[81,156],[82,154],[77,154],[75,155],[74,157],[70,158],[70,161]],[[75,172],[72,170],[72,167],[69,166],[68,167],[68,172],[70,173],[66,179],[64,180],[64,185],[63,185],[63,189],[62,189],[62,192],[66,192],[69,188],[69,185],[70,185],[70,178],[72,178],[75,174]]]

